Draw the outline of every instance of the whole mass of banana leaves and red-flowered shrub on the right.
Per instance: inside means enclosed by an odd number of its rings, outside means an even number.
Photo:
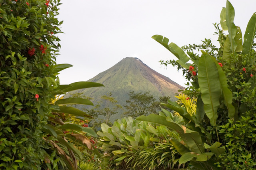
[[[164,105],[179,113],[184,124],[171,116],[154,114],[137,120],[165,125],[178,132],[184,143],[171,142],[182,155],[179,163],[190,162],[200,169],[253,169],[256,168],[253,149],[256,146],[253,99],[256,13],[248,22],[244,42],[240,28],[234,24],[234,8],[228,0],[220,18],[222,30],[215,24],[219,48],[207,39],[201,45],[180,48],[163,36],[152,37],[178,58],[160,62],[177,65],[183,69],[186,79],[191,80],[192,86],[184,93],[197,98],[196,114],[190,115],[185,108],[168,101]],[[197,49],[202,54],[196,53]]]

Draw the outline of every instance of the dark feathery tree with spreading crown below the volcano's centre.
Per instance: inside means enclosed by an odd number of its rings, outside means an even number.
[[[140,115],[149,115],[150,113],[156,113],[156,99],[150,92],[135,93],[131,91],[129,94],[130,100],[127,100],[124,107],[128,110],[124,115],[136,118]]]

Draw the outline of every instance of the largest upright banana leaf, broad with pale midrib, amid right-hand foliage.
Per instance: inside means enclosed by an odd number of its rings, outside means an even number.
[[[217,109],[220,106],[220,80],[214,60],[208,54],[203,54],[200,57],[198,83],[202,93],[201,98],[204,102],[204,111],[210,119],[210,124],[216,127]]]

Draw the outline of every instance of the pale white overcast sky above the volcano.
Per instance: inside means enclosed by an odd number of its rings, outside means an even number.
[[[125,57],[138,57],[155,71],[183,85],[182,71],[158,61],[176,59],[151,37],[159,34],[178,46],[211,38],[226,0],[62,0],[57,63],[73,67],[60,72],[60,83],[87,81]],[[256,0],[230,0],[242,33],[256,12]],[[215,43],[218,45],[218,42]]]

